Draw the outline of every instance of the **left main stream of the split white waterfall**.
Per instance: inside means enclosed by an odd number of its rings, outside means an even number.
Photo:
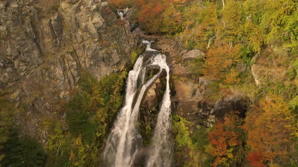
[[[139,134],[130,128],[131,110],[133,99],[137,92],[137,80],[139,75],[144,75],[142,70],[143,56],[139,56],[134,64],[133,70],[129,71],[126,85],[125,105],[121,109],[114,123],[114,127],[108,137],[106,148],[104,150],[104,159],[107,166],[129,166],[131,162],[131,150],[127,150],[127,140],[134,141],[139,138]],[[143,77],[141,77],[143,78]],[[131,142],[132,143],[132,142]],[[135,147],[136,151],[137,147]]]

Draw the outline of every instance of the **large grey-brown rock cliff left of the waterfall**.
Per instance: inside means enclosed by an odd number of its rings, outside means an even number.
[[[51,4],[51,5],[49,5]],[[107,2],[1,1],[0,92],[26,104],[23,133],[46,140],[42,117],[56,113],[77,85],[80,71],[100,79],[130,63],[134,40]]]

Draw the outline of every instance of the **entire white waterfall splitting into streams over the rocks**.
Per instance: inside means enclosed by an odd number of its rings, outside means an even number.
[[[157,50],[150,47],[151,42],[143,41],[143,43],[147,45],[145,51],[157,52]],[[167,72],[167,87],[158,115],[153,145],[147,156],[147,166],[169,166],[171,164],[171,147],[169,145],[169,130],[171,125],[169,66],[166,63],[165,55],[154,54],[150,59],[151,62],[147,66],[159,67],[160,70],[151,79],[145,82],[144,76],[146,68],[143,67],[145,55],[148,54],[142,54],[137,58],[133,70],[128,73],[125,105],[118,114],[104,150],[106,166],[126,167],[133,165],[134,157],[141,147],[141,135],[136,129],[139,106],[144,93],[160,76],[163,70]]]

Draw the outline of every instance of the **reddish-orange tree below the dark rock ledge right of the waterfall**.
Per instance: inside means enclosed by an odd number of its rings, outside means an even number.
[[[207,152],[215,157],[213,166],[229,166],[232,162],[241,162],[242,130],[239,127],[241,119],[238,112],[227,115],[219,121],[214,128],[208,133],[210,144]]]

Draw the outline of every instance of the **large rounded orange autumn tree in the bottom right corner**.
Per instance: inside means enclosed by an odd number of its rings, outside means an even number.
[[[244,121],[251,164],[287,162],[292,150],[290,138],[294,117],[281,97],[270,95],[262,99],[247,113]]]

